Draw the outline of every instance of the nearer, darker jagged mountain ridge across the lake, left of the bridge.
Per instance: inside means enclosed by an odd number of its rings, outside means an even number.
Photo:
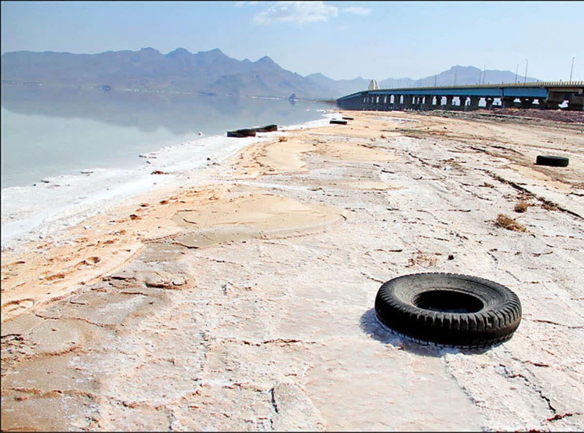
[[[162,54],[154,48],[99,54],[33,53],[2,55],[3,82],[110,89],[180,90],[223,95],[331,97],[331,89],[287,71],[265,56],[236,60],[221,50],[190,53],[177,48]]]

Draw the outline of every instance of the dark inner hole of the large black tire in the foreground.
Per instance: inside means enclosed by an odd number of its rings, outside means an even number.
[[[413,299],[418,308],[443,313],[476,313],[484,304],[476,296],[451,290],[430,290]]]

